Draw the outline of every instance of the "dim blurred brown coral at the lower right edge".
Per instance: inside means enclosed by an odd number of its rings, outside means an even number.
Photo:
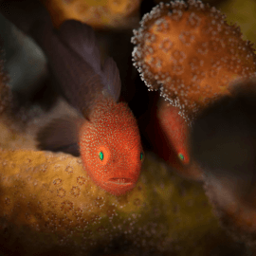
[[[245,170],[245,172],[247,171]],[[241,185],[238,178],[232,178],[231,181],[227,181],[227,175],[215,177],[209,174],[206,176],[206,194],[210,199],[214,214],[218,217],[221,226],[227,230],[229,235],[234,240],[242,241],[248,247],[255,248],[255,204],[247,204],[246,189],[243,196],[243,193],[240,192],[241,188],[234,181]],[[250,187],[250,184],[247,184],[247,186]],[[253,191],[252,188],[251,190]],[[247,196],[251,196],[251,194]]]

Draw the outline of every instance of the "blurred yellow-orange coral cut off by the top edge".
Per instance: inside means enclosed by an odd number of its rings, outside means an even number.
[[[53,24],[59,27],[64,20],[80,20],[92,27],[134,27],[138,22],[141,0],[41,0],[48,9]]]

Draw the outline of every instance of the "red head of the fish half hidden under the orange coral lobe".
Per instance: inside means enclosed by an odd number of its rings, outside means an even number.
[[[180,109],[168,101],[159,101],[156,110],[155,131],[159,139],[159,155],[163,157],[178,174],[194,180],[202,180],[202,170],[191,158],[189,152],[190,127],[180,114]]]

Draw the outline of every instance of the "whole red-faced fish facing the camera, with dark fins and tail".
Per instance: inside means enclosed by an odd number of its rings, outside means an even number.
[[[107,58],[101,65],[91,27],[68,20],[55,29],[49,19],[38,22],[29,13],[24,17],[24,10],[19,13],[20,9],[13,8],[18,2],[4,1],[2,12],[41,46],[59,91],[81,114],[78,119],[64,117],[46,125],[37,137],[39,147],[81,155],[85,171],[107,192],[131,191],[140,174],[143,151],[137,121],[128,105],[119,102],[117,64]],[[19,7],[25,9],[26,4]],[[21,16],[30,25],[20,24]]]

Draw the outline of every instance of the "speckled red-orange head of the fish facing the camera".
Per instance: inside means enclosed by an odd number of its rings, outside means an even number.
[[[101,189],[119,195],[135,187],[142,148],[136,119],[126,104],[99,102],[82,125],[80,150],[84,169]]]

